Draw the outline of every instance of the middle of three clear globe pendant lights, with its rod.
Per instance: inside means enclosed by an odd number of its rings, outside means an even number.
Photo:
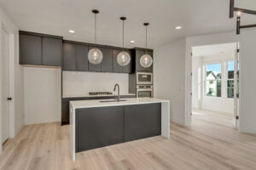
[[[117,62],[121,66],[128,65],[131,61],[131,56],[127,52],[125,52],[124,43],[125,43],[125,20],[126,18],[120,17],[120,20],[123,21],[123,51],[120,52],[117,56]]]

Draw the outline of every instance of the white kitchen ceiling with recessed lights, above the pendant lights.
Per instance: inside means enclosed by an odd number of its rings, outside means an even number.
[[[237,0],[236,0],[237,1]],[[256,9],[255,0],[238,0],[236,6]],[[59,35],[65,39],[93,42],[94,15],[98,14],[98,43],[121,46],[124,15],[125,47],[144,47],[148,21],[148,47],[155,48],[181,37],[235,31],[229,19],[230,0],[0,0],[0,6],[23,31]],[[247,17],[246,23],[256,16]],[[244,22],[244,20],[242,20]],[[183,26],[180,31],[176,26]],[[68,30],[74,30],[70,34]],[[130,41],[135,40],[134,44]]]

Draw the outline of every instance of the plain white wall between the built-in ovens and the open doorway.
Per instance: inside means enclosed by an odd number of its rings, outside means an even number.
[[[185,39],[154,49],[154,97],[170,100],[171,121],[185,124]]]

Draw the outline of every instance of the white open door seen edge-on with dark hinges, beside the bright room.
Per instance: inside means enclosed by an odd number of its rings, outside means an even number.
[[[235,71],[234,71],[234,127],[239,129],[239,59],[240,59],[239,43],[236,45]]]

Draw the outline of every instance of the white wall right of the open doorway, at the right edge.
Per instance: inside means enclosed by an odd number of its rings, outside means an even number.
[[[240,130],[246,133],[256,133],[256,29],[241,32],[241,116]]]

